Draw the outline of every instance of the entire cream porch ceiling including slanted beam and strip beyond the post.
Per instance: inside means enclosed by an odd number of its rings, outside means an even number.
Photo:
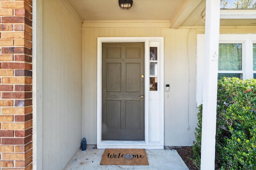
[[[206,0],[133,0],[121,10],[118,0],[68,0],[82,20],[170,20],[171,27],[204,26],[201,13]],[[205,12],[203,12],[203,15]],[[220,20],[221,26],[256,26],[250,20]]]

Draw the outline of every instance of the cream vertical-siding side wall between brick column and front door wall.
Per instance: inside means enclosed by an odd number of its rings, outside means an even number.
[[[75,100],[82,100],[81,64],[76,65],[82,26],[60,0],[44,1],[43,15],[42,161],[43,169],[62,169],[80,147],[82,133],[82,106]]]

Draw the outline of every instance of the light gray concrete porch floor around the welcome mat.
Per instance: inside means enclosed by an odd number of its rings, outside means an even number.
[[[103,152],[104,149],[79,150],[65,170],[188,170],[178,152],[173,149],[146,149],[148,166],[100,165]]]

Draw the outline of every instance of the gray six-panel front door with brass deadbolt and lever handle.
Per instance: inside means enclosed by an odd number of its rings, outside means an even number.
[[[102,140],[144,141],[143,95],[144,43],[102,43]]]

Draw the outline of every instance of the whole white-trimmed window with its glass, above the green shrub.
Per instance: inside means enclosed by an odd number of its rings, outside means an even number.
[[[202,104],[204,34],[197,35],[197,106]],[[256,34],[220,34],[218,79],[256,78]]]

